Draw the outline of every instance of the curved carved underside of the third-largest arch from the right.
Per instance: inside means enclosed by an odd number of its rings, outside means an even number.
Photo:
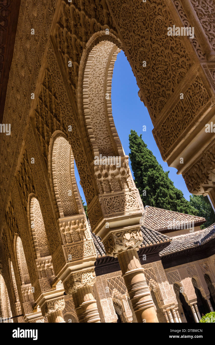
[[[40,258],[49,256],[50,249],[46,229],[43,222],[39,201],[34,194],[30,194],[28,197],[28,219],[31,241],[35,249],[36,257]]]

